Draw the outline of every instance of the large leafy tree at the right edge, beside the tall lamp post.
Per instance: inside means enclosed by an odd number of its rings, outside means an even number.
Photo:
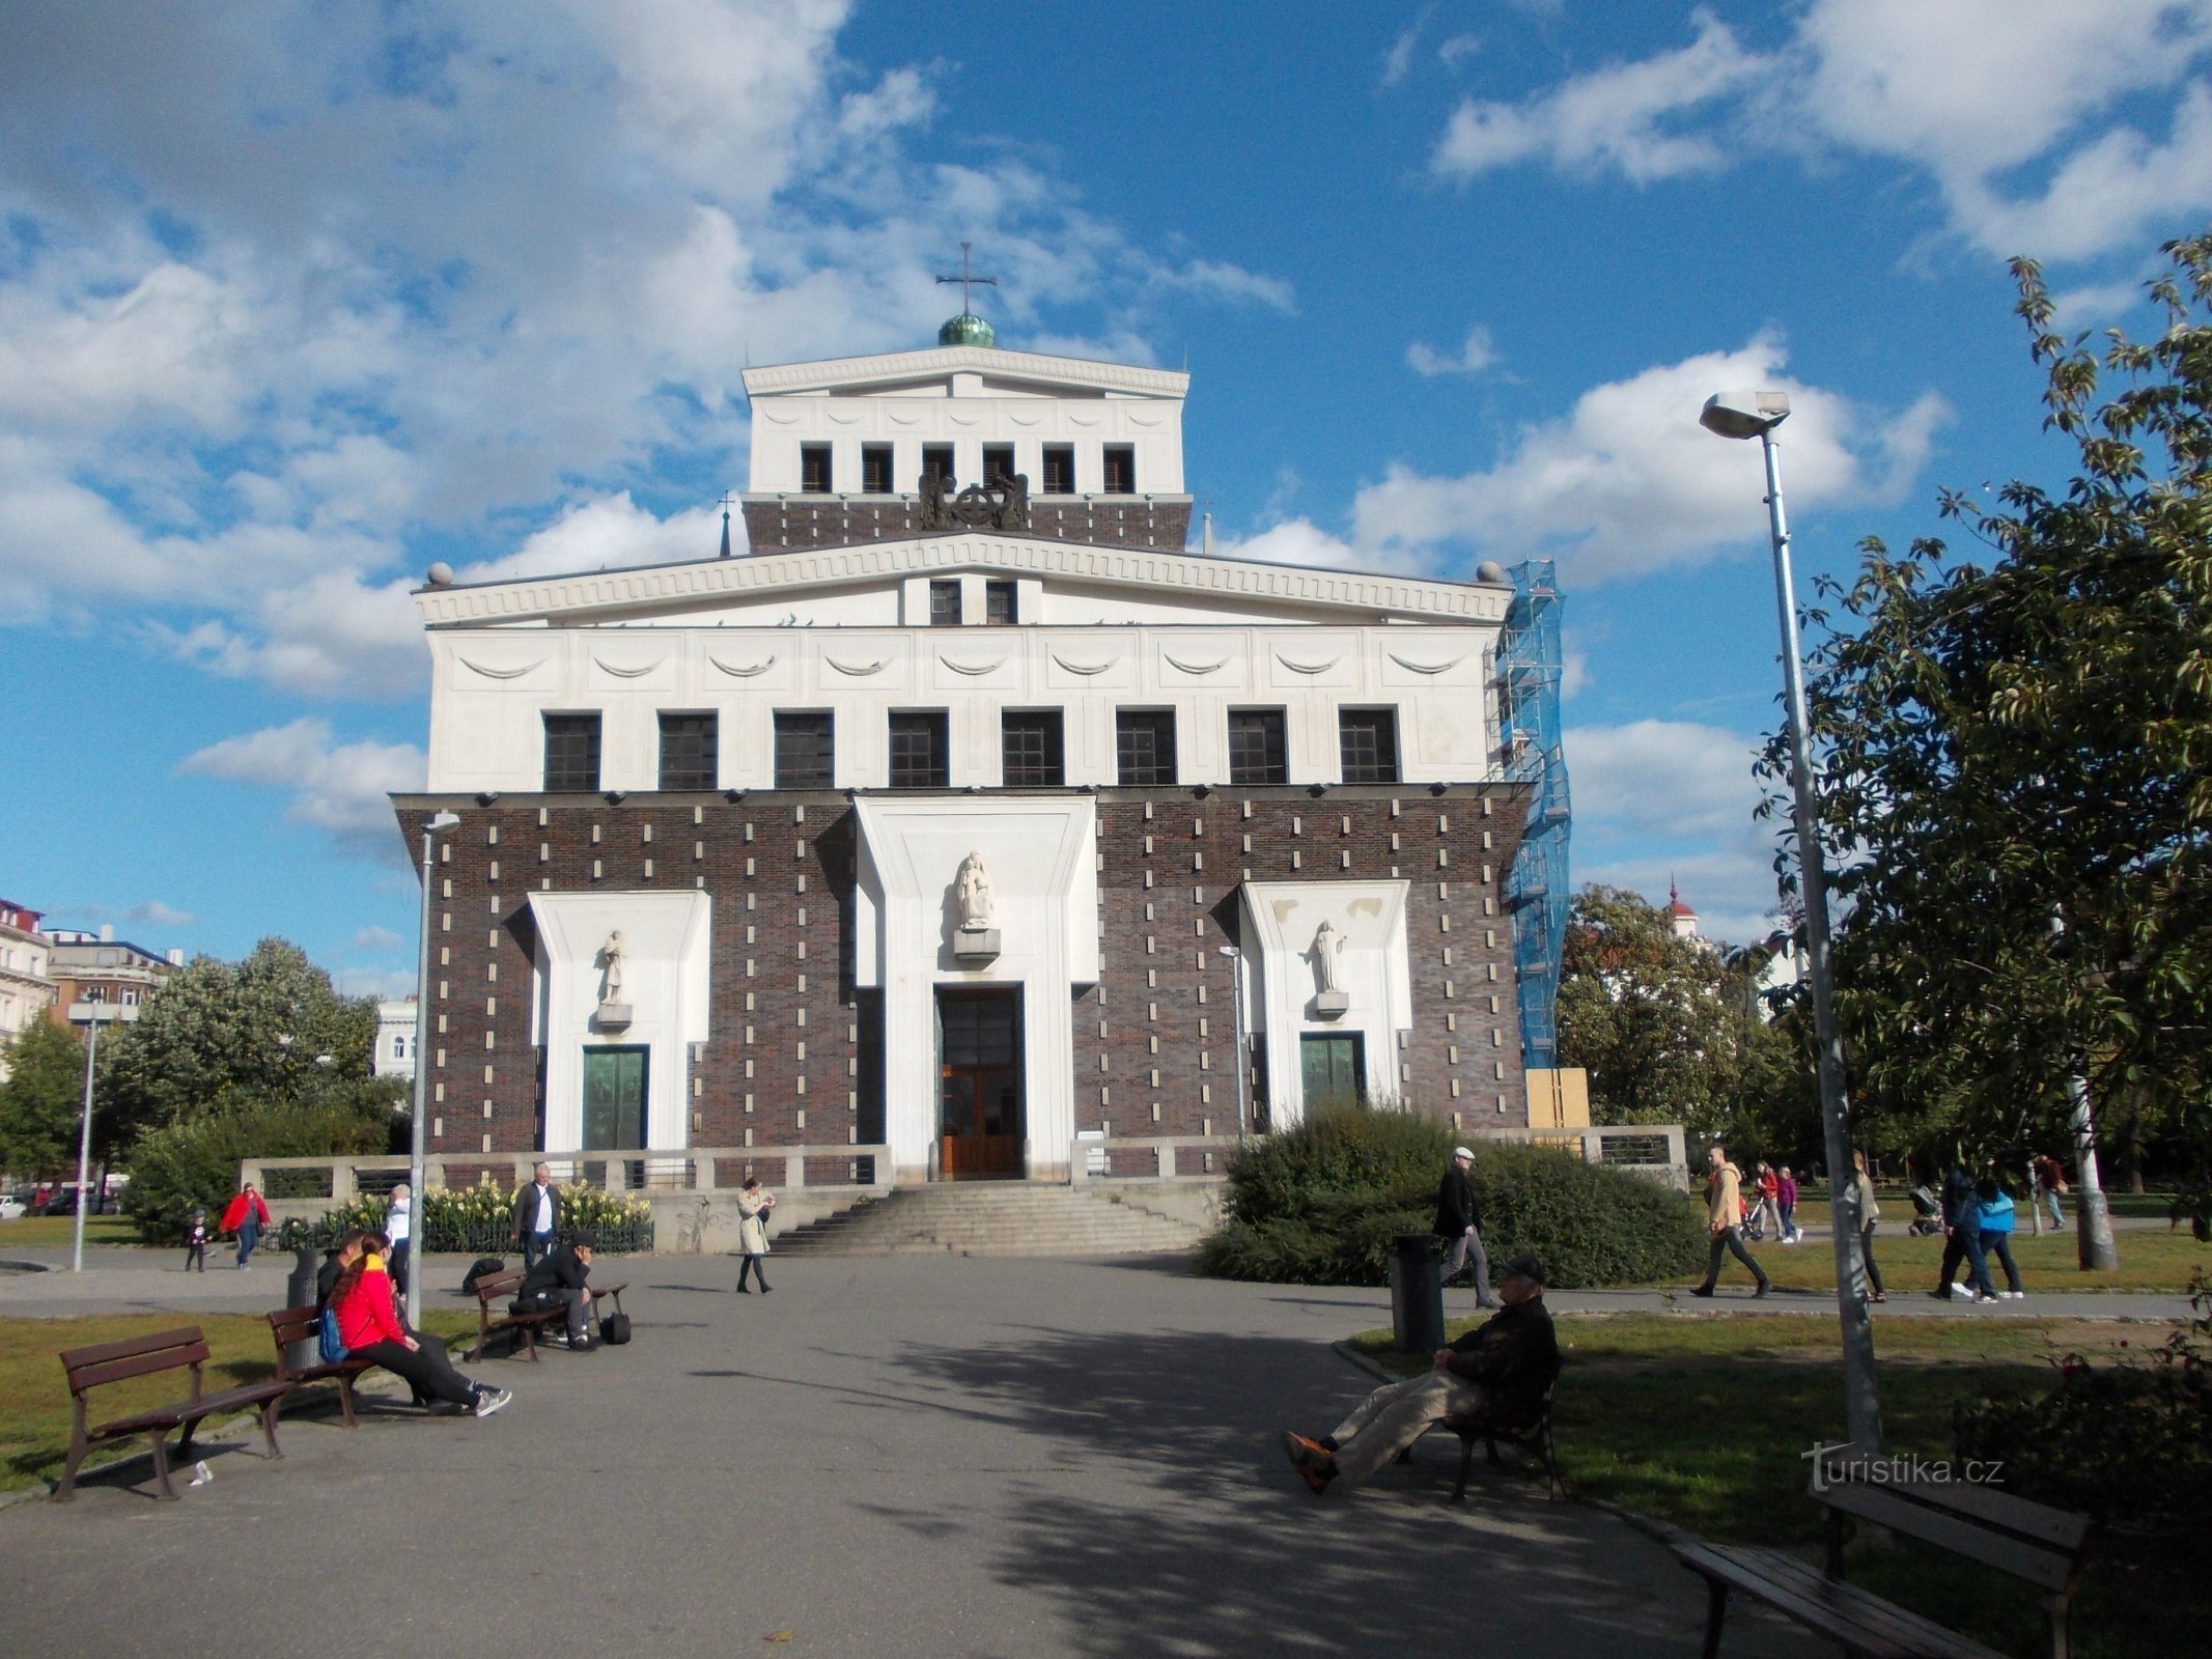
[[[2212,237],[2168,243],[2150,343],[2020,316],[2079,473],[1865,544],[1812,653],[1838,1013],[1858,1108],[1929,1152],[2059,1148],[2068,1077],[2201,1170],[2212,1053]],[[2119,389],[2104,403],[2101,387]],[[1785,776],[1781,741],[1770,776]],[[2057,931],[2059,925],[2064,931]]]

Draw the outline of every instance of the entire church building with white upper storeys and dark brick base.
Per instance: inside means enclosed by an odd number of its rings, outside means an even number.
[[[1206,1175],[1338,1097],[1528,1124],[1498,566],[1192,549],[1188,376],[967,312],[743,383],[737,549],[416,593],[449,1181]]]

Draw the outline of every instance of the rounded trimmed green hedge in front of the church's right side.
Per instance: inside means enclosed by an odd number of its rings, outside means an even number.
[[[1290,1285],[1387,1285],[1391,1239],[1429,1232],[1451,1130],[1409,1113],[1336,1108],[1232,1159],[1223,1223],[1197,1272]],[[1694,1203],[1650,1177],[1548,1146],[1471,1141],[1491,1263],[1533,1252],[1551,1285],[1681,1279],[1705,1259]]]

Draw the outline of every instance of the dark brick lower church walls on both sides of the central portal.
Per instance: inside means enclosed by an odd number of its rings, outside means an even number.
[[[830,1148],[880,1124],[847,969],[856,821],[843,794],[416,796],[403,832],[440,807],[460,825],[440,836],[431,894],[431,1152],[538,1146],[526,896],[703,880],[710,1037],[686,1079],[690,1144],[821,1146],[807,1179],[845,1179]],[[1398,1097],[1469,1128],[1528,1121],[1502,900],[1524,790],[1102,790],[1097,812],[1102,980],[1073,991],[1077,1128],[1234,1133],[1237,1013],[1219,947],[1237,942],[1237,885],[1391,876],[1409,883],[1413,993]]]

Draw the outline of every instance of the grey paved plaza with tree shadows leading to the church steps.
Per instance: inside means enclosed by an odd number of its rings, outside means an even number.
[[[77,1301],[254,1310],[285,1267],[133,1261]],[[462,1265],[431,1265],[440,1301]],[[1316,1502],[1274,1431],[1371,1387],[1332,1343],[1383,1296],[1177,1267],[790,1259],[763,1298],[719,1256],[617,1261],[637,1340],[471,1367],[515,1391],[495,1418],[299,1407],[283,1462],[223,1440],[177,1504],[124,1484],[142,1462],[0,1511],[4,1650],[1697,1650],[1703,1588],[1661,1544],[1540,1482],[1455,1511],[1442,1440]],[[66,1312],[58,1281],[0,1276],[0,1312]],[[1783,1644],[1730,1626],[1743,1659]]]

